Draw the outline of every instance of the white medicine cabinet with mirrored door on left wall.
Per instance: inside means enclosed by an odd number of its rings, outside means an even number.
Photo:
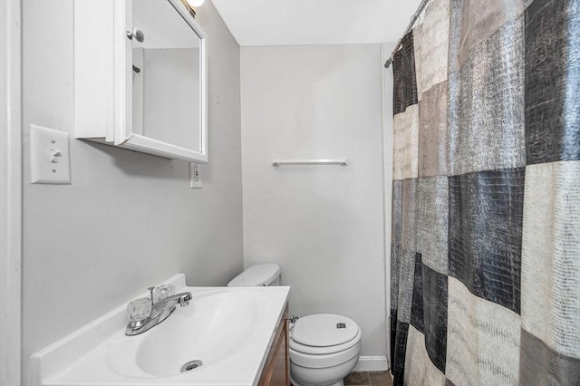
[[[208,161],[206,34],[180,0],[75,0],[75,136]]]

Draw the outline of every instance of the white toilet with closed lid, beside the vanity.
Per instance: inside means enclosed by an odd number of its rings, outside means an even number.
[[[277,264],[252,265],[227,286],[280,285]],[[290,323],[290,378],[295,386],[343,386],[361,354],[361,328],[336,314],[312,314]]]

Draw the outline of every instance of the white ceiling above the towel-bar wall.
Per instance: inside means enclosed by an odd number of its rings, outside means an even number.
[[[387,43],[420,0],[212,0],[241,46]]]

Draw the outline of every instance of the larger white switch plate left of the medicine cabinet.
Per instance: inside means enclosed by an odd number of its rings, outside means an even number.
[[[69,133],[30,125],[30,171],[33,184],[70,184]]]

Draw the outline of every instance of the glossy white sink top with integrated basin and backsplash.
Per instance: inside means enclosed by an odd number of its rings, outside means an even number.
[[[32,383],[255,385],[289,287],[185,287],[182,276],[171,283],[191,292],[188,306],[126,336],[123,305],[34,354]]]

